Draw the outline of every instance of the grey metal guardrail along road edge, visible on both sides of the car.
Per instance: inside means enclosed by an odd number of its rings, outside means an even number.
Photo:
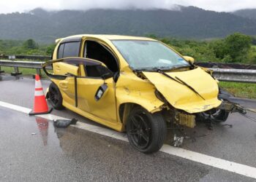
[[[37,74],[41,74],[42,63],[45,62],[0,60],[0,73],[1,66],[7,66],[15,68],[15,71],[12,73],[13,76],[21,74],[18,68],[35,68],[37,69]],[[52,69],[52,67],[48,66],[47,69]],[[227,68],[209,69],[214,71],[214,76],[219,81],[256,83],[256,70]]]

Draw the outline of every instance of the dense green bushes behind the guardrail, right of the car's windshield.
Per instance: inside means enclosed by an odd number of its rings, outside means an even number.
[[[256,37],[233,33],[224,39],[193,40],[157,38],[169,44],[182,55],[188,55],[200,62],[249,63],[256,64]]]

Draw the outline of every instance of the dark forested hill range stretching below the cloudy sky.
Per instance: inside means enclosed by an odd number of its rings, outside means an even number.
[[[47,12],[34,9],[28,13],[0,15],[0,39],[54,39],[78,33],[109,33],[182,38],[217,38],[233,32],[256,34],[256,20],[226,12],[197,7],[167,9],[90,9]]]

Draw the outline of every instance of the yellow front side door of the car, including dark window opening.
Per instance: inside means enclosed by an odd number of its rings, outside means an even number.
[[[118,63],[110,50],[95,40],[83,40],[83,56],[101,62],[113,74],[118,71]],[[116,118],[116,83],[113,77],[102,79],[94,66],[80,66],[81,78],[78,78],[78,108],[104,119],[108,122],[117,122]],[[83,77],[84,76],[84,77]],[[95,97],[99,87],[107,85],[108,89],[97,100]]]

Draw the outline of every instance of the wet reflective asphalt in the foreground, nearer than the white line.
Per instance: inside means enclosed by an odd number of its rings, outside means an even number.
[[[213,167],[162,152],[141,154],[124,141],[55,128],[47,119],[6,108],[0,116],[0,181],[211,181],[215,173],[230,179]]]

